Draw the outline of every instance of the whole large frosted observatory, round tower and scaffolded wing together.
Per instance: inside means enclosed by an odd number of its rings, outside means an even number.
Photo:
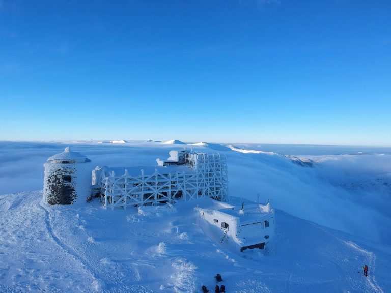
[[[43,186],[47,204],[76,204],[100,197],[105,207],[139,206],[202,197],[228,199],[227,164],[220,154],[170,151],[157,166],[96,167],[70,148],[47,159]]]

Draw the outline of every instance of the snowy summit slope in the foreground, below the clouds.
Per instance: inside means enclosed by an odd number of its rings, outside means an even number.
[[[136,208],[105,210],[97,199],[74,208],[41,198],[37,191],[0,199],[1,291],[197,292],[212,288],[216,273],[229,292],[386,292],[390,285],[376,260],[389,260],[389,251],[278,210],[270,248],[240,254],[197,224],[193,208],[218,204],[211,199],[141,216]]]

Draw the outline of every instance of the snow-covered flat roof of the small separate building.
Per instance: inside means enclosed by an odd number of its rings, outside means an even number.
[[[265,206],[262,204],[249,204],[244,206],[243,211],[241,211],[241,208],[241,206],[238,206],[220,209],[218,211],[239,218],[240,225],[263,221],[269,218],[272,213],[270,204],[266,204]]]

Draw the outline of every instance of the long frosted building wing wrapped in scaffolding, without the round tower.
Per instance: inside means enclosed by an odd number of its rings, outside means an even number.
[[[228,199],[227,164],[220,154],[171,151],[158,166],[93,170],[93,190],[105,207],[185,201],[202,197]]]

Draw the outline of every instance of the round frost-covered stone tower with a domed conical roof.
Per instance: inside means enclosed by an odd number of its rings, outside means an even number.
[[[91,196],[91,160],[80,153],[65,151],[44,164],[43,197],[47,204],[79,204]]]

